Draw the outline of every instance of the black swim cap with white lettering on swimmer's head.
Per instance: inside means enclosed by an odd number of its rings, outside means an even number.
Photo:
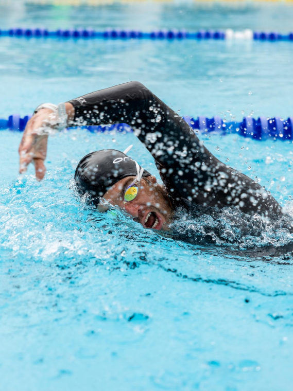
[[[79,190],[91,194],[94,199],[103,197],[116,182],[132,175],[137,175],[133,159],[115,149],[103,149],[89,153],[81,159],[76,167],[74,179]],[[150,173],[144,170],[142,176],[148,175]]]

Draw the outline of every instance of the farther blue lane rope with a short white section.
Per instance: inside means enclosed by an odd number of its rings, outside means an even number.
[[[143,32],[137,30],[107,29],[95,31],[93,29],[58,29],[49,31],[43,28],[12,28],[0,29],[0,37],[26,38],[63,38],[63,39],[151,39],[151,40],[255,40],[255,41],[292,41],[293,32],[281,34],[278,32],[227,30],[200,30],[188,32],[186,30],[156,30]]]

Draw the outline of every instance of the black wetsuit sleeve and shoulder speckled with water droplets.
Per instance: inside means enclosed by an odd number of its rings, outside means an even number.
[[[246,175],[221,163],[188,124],[143,84],[129,82],[70,101],[74,125],[127,123],[150,151],[175,206],[237,206],[279,211],[278,203]]]

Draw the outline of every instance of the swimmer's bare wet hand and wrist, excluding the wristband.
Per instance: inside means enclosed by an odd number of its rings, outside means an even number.
[[[67,125],[74,118],[74,107],[70,102],[65,103]],[[37,180],[41,181],[46,173],[44,161],[47,155],[48,128],[54,129],[53,110],[41,109],[27,122],[19,146],[21,174],[25,173],[30,163],[33,163]]]

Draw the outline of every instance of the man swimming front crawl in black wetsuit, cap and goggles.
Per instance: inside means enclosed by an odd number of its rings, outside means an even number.
[[[152,154],[164,185],[125,152],[106,149],[84,156],[75,171],[81,194],[103,211],[118,206],[145,228],[168,230],[178,207],[238,208],[246,214],[281,213],[274,198],[248,176],[221,163],[177,113],[143,84],[129,82],[58,106],[40,105],[28,121],[20,173],[30,163],[45,175],[48,128],[128,123]],[[106,202],[105,202],[106,201]]]

